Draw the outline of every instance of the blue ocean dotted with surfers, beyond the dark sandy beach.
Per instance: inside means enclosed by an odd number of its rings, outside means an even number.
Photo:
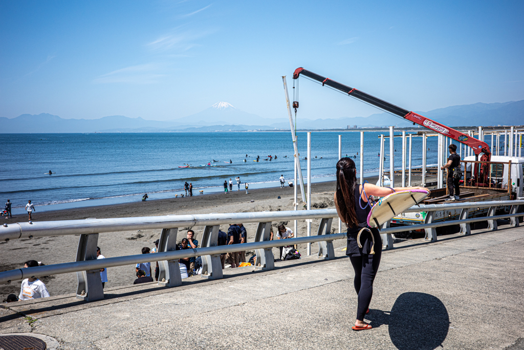
[[[312,132],[312,182],[334,179],[339,134],[343,156],[359,152],[358,132]],[[364,133],[365,176],[378,174],[379,134]],[[307,133],[297,135],[305,181]],[[436,163],[436,143],[436,137],[428,138],[428,163]],[[204,194],[222,191],[224,180],[230,178],[235,189],[236,176],[240,176],[242,184],[248,182],[250,189],[279,186],[280,175],[286,182],[293,180],[289,131],[0,134],[0,146],[0,200],[5,203],[10,199],[14,213],[23,212],[28,199],[37,211],[43,211],[127,203],[141,200],[145,193],[149,199],[171,198],[184,192],[185,181],[193,184],[193,195],[198,195],[199,190]],[[402,155],[400,138],[395,139],[395,147],[398,168]],[[389,141],[385,148],[389,154]],[[413,137],[412,149],[412,166],[420,166],[421,137]],[[253,162],[257,155],[258,163]],[[268,155],[274,157],[272,161],[264,161]],[[233,163],[226,163],[230,160]],[[357,156],[357,170],[359,161]],[[208,162],[214,166],[199,166]],[[389,156],[385,163],[388,168]],[[184,164],[191,167],[179,167]],[[47,174],[50,170],[52,175]]]

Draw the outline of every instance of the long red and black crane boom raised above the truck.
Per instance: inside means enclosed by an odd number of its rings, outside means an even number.
[[[484,141],[474,139],[473,137],[470,137],[458,130],[450,128],[449,126],[443,125],[439,122],[435,122],[429,118],[426,118],[423,115],[400,108],[392,103],[389,103],[379,98],[376,98],[374,96],[371,96],[370,94],[365,93],[363,91],[348,87],[344,84],[341,84],[329,78],[319,76],[318,74],[313,73],[304,68],[297,68],[293,73],[293,79],[298,79],[300,75],[306,76],[316,81],[319,81],[322,83],[322,86],[327,85],[329,87],[332,87],[333,89],[345,92],[354,98],[357,98],[359,100],[372,104],[389,113],[401,116],[402,118],[409,120],[413,124],[418,124],[425,129],[434,131],[446,137],[450,137],[450,139],[453,139],[456,142],[460,142],[462,144],[465,144],[471,147],[475,153],[475,156],[477,157],[479,154],[483,153],[480,159],[482,162],[490,161],[491,152],[489,150],[488,144],[485,143]]]

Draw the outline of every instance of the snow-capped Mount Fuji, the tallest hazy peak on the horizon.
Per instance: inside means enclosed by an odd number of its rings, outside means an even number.
[[[285,118],[269,119],[247,113],[227,102],[216,102],[211,107],[173,122],[191,125],[270,125],[286,122]]]

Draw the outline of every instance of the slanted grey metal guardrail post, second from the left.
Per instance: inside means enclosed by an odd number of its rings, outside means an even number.
[[[177,234],[178,227],[162,229],[158,242],[158,252],[177,250]],[[177,287],[177,285],[182,284],[178,260],[159,261],[158,268],[160,270],[158,285]]]

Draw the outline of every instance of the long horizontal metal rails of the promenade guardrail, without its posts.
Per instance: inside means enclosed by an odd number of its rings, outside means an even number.
[[[415,206],[407,211],[435,211],[445,208],[472,208],[472,207],[503,207],[524,204],[524,200],[506,200],[506,201],[485,201],[478,203],[452,203],[443,205],[421,205],[420,207]],[[409,227],[395,227],[395,228],[384,228],[381,230],[381,234],[391,234],[406,229],[417,229],[417,228],[432,228],[438,226],[448,226],[457,224],[466,224],[475,221],[484,220],[496,220],[499,218],[517,217],[522,216],[522,213],[490,216],[490,217],[478,217],[471,219],[462,220],[449,220],[444,222],[434,222],[431,224],[415,225]],[[332,218],[336,216],[335,209],[317,209],[317,210],[300,210],[300,211],[262,211],[258,213],[227,213],[227,214],[202,214],[202,215],[168,215],[168,216],[155,216],[155,217],[138,217],[138,218],[117,218],[117,219],[90,219],[90,220],[68,220],[68,221],[43,221],[38,222],[31,226],[30,224],[10,224],[7,227],[0,227],[0,237],[5,238],[6,236],[13,235],[13,232],[9,231],[5,233],[4,230],[9,229],[9,226],[19,227],[17,232],[18,237],[29,237],[30,234],[38,235],[38,237],[45,236],[57,236],[57,235],[76,235],[76,234],[93,234],[100,232],[111,232],[111,231],[124,231],[128,230],[129,227],[146,227],[147,228],[176,228],[183,226],[216,226],[221,224],[230,224],[237,222],[270,222],[281,220],[281,219],[315,219],[315,218]],[[123,220],[124,222],[116,222]],[[83,225],[82,225],[83,224]],[[27,228],[26,228],[27,225]],[[146,225],[146,226],[139,226]],[[151,227],[152,226],[152,227]],[[58,230],[59,233],[54,232]],[[71,230],[73,232],[71,232]],[[4,236],[1,236],[5,234]],[[333,241],[336,239],[346,238],[346,233],[340,234],[326,234],[314,235],[309,237],[290,238],[285,242],[280,240],[267,240],[258,241],[251,243],[243,243],[239,245],[228,245],[228,246],[213,246],[203,247],[195,249],[185,250],[172,250],[150,254],[139,254],[124,257],[114,257],[106,259],[93,259],[75,262],[66,262],[60,264],[51,264],[47,266],[39,266],[34,268],[16,269],[10,271],[0,272],[0,283],[9,282],[13,280],[25,279],[27,277],[34,276],[45,276],[53,274],[62,274],[79,271],[96,271],[102,268],[125,266],[128,264],[151,262],[151,261],[164,261],[164,260],[177,260],[181,258],[191,258],[197,256],[212,256],[216,254],[222,254],[227,252],[234,252],[238,250],[256,250],[265,248],[280,247],[282,245],[297,245],[303,243],[321,242],[321,241]]]

